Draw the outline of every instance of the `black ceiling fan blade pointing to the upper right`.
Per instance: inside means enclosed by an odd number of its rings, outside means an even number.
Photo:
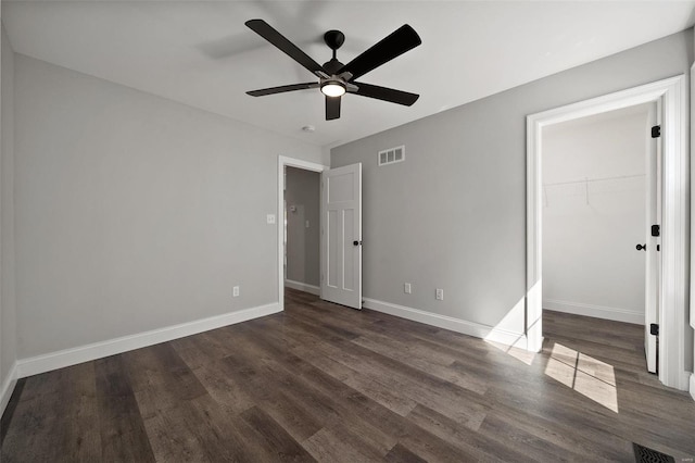
[[[394,58],[400,57],[406,51],[414,49],[420,43],[422,43],[420,36],[417,35],[413,27],[404,24],[390,36],[345,64],[336,74],[349,72],[352,74],[351,78],[357,78],[379,67],[383,63],[388,63]]]

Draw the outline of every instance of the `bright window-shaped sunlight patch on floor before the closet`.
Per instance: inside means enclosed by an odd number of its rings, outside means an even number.
[[[545,374],[618,413],[618,390],[612,365],[555,343],[545,366]]]

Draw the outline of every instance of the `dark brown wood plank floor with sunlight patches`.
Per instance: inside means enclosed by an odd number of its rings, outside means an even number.
[[[640,326],[546,312],[531,354],[299,291],[286,302],[22,379],[0,460],[633,462],[633,441],[695,455],[695,402],[645,372]]]

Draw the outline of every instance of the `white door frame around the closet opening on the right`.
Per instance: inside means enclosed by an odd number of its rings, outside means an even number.
[[[618,91],[527,116],[527,338],[528,349],[543,343],[542,240],[542,129],[579,117],[636,104],[661,102],[664,139],[664,207],[661,222],[662,283],[659,312],[659,379],[666,386],[687,389],[685,365],[685,310],[688,299],[687,88],[685,76]]]

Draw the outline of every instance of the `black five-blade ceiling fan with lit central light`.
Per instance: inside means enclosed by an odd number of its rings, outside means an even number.
[[[319,78],[318,82],[283,85],[280,87],[247,91],[247,93],[252,97],[263,97],[266,95],[282,93],[285,91],[319,88],[326,96],[326,121],[340,117],[340,101],[341,97],[345,95],[345,92],[404,104],[406,107],[415,103],[420,97],[417,93],[379,87],[355,80],[356,78],[367,74],[369,71],[372,71],[394,58],[400,57],[422,42],[415,29],[407,24],[397,28],[391,35],[377,42],[348,64],[341,63],[336,58],[336,50],[343,45],[345,36],[340,30],[329,30],[324,35],[324,41],[333,51],[333,58],[323,66],[274,29],[265,21],[250,20],[247,21],[245,24],[253,32],[280,49],[280,51],[287,53],[291,59],[300,63]]]

